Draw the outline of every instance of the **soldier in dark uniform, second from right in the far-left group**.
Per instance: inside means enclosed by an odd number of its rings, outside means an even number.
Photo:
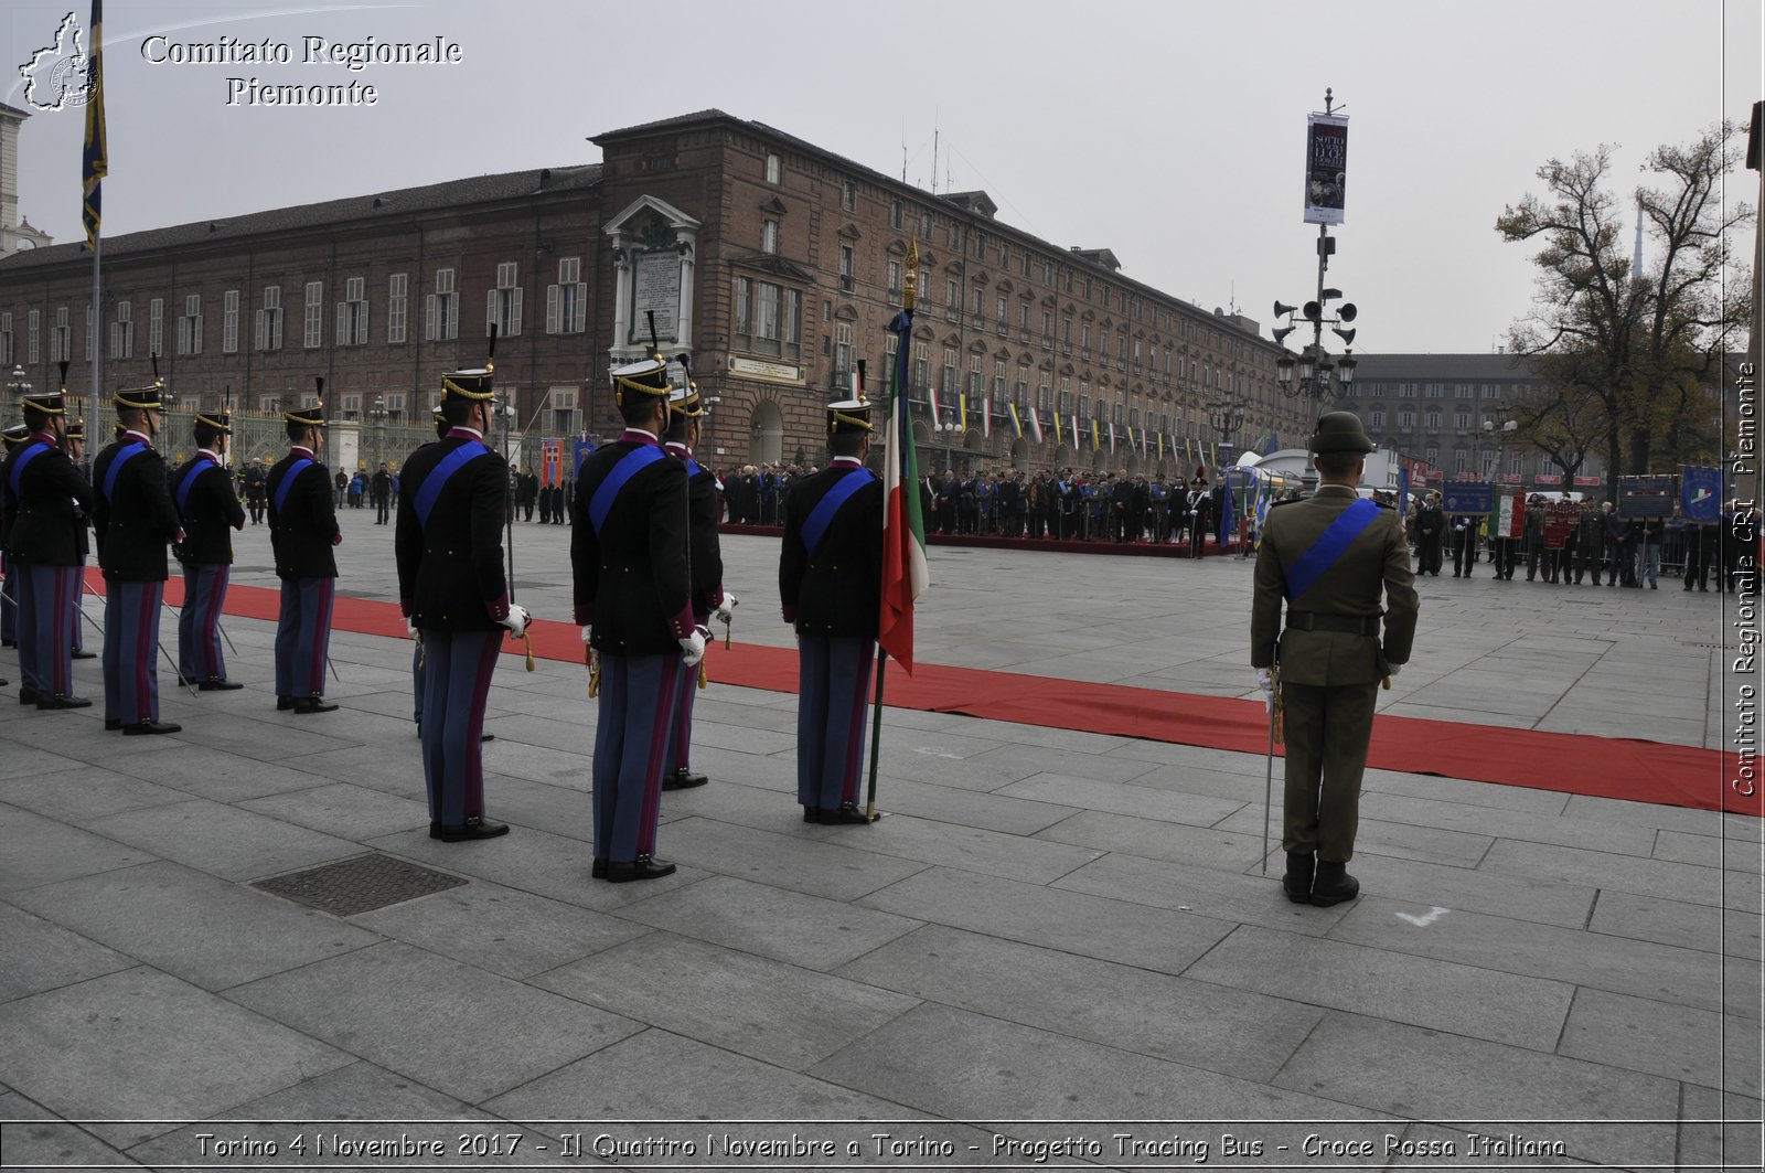
[[[171,503],[184,525],[176,555],[184,565],[184,608],[178,611],[178,684],[203,692],[245,687],[226,678],[221,655],[221,611],[226,608],[233,572],[233,537],[245,528],[245,511],[233,493],[226,470],[226,445],[233,436],[233,413],[198,412],[196,456],[171,470]]]

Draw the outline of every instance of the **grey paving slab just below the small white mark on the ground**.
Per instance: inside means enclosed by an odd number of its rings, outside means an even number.
[[[1183,972],[1336,1010],[1378,1014],[1431,1030],[1550,1051],[1574,986],[1363,949],[1299,933],[1239,926]],[[1488,1007],[1502,1007],[1490,1014]]]

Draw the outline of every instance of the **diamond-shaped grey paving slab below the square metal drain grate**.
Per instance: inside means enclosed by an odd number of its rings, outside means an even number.
[[[226,996],[473,1104],[641,1030],[401,942],[235,986]]]

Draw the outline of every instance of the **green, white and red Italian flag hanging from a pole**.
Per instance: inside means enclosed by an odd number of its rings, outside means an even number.
[[[877,643],[913,675],[913,604],[932,583],[925,560],[925,519],[920,516],[920,470],[907,417],[907,350],[913,311],[895,314],[890,330],[900,337],[890,380],[888,435],[882,473],[882,615]]]

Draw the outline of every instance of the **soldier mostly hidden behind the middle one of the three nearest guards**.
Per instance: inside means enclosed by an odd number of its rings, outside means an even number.
[[[695,627],[708,627],[713,615],[727,624],[734,618],[736,608],[736,597],[724,590],[724,551],[717,541],[717,477],[692,458],[704,412],[699,389],[688,380],[685,389],[669,396],[667,435],[662,445],[669,456],[687,465],[687,548]],[[662,790],[692,790],[710,781],[704,774],[694,774],[690,767],[692,701],[699,694],[697,684],[697,673],[680,673],[674,724],[669,728],[667,753],[662,756]]]

